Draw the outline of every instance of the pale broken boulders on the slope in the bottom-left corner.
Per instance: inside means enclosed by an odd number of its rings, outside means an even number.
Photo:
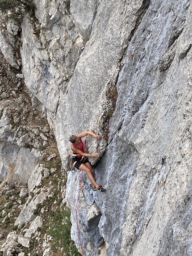
[[[58,179],[58,175],[54,174],[55,171],[56,170],[53,168],[50,170],[50,175],[53,174],[51,180],[54,181],[54,183],[55,179]],[[57,171],[57,174],[58,173]],[[33,255],[43,254],[44,256],[50,256],[50,241],[54,239],[51,235],[44,234],[43,230],[46,227],[52,228],[50,216],[60,209],[60,205],[55,201],[55,196],[52,192],[56,189],[58,191],[58,187],[56,186],[55,188],[54,185],[42,187],[42,185],[38,183],[38,179],[34,176],[33,183],[35,179],[37,186],[29,193],[27,189],[21,189],[21,187],[14,183],[8,185],[8,182],[4,182],[4,184],[0,186],[1,255],[12,256],[18,254],[25,256],[26,252],[28,252],[33,253]],[[46,179],[42,177],[42,183],[45,183],[45,180]],[[31,180],[28,181],[28,185],[32,187],[30,182]],[[9,184],[10,183],[9,180]],[[51,184],[51,181],[49,181],[49,184]],[[21,189],[21,191],[18,189]],[[59,194],[57,193],[57,199],[58,198]],[[67,216],[64,218],[65,221],[67,218]],[[50,223],[49,226],[46,226],[46,223]]]

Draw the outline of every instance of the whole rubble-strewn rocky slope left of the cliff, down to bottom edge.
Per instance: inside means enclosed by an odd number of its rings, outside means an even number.
[[[47,215],[57,206],[59,211],[62,201],[47,210],[48,202],[54,200],[50,188],[55,191],[55,186],[58,190],[62,185],[57,184],[61,164],[54,131],[44,114],[21,71],[11,67],[0,52],[0,255],[25,256],[28,251],[34,256],[43,250],[44,256],[50,256],[54,239],[42,230],[50,222]],[[49,186],[56,181],[47,188],[49,176]],[[38,243],[35,252],[34,243]]]

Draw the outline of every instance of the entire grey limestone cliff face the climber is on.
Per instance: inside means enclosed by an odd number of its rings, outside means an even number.
[[[22,23],[22,72],[46,109],[63,168],[70,134],[104,135],[99,143],[87,138],[88,151],[100,152],[92,163],[106,193],[93,192],[83,174],[83,255],[191,255],[191,1],[36,5],[36,19]],[[68,173],[79,251],[80,180],[81,172]]]

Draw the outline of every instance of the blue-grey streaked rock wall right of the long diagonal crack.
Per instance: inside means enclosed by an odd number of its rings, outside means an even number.
[[[93,198],[108,256],[192,253],[190,24],[188,1],[151,1],[132,35],[118,76],[109,146],[95,168],[107,190]],[[86,241],[91,232],[87,228]],[[84,251],[92,255],[88,243]]]

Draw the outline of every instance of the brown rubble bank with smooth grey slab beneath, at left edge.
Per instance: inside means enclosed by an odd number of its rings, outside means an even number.
[[[24,76],[0,52],[0,180],[25,186],[42,158],[55,147],[54,132],[42,105],[25,86]],[[39,150],[40,149],[40,150]],[[2,185],[1,184],[1,185]]]

